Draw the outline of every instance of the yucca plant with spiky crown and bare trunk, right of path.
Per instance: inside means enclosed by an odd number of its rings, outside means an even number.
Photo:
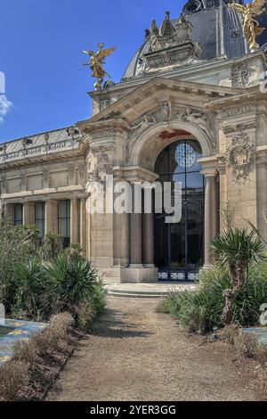
[[[230,325],[233,303],[246,283],[248,267],[264,258],[265,243],[255,228],[229,228],[212,240],[210,247],[218,265],[229,270],[231,288],[223,292],[223,324]]]

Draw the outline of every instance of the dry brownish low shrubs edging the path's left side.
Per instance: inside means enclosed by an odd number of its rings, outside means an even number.
[[[44,396],[47,385],[58,374],[58,366],[70,353],[72,325],[72,316],[61,313],[52,317],[44,331],[13,346],[12,359],[0,368],[0,400],[36,400]]]

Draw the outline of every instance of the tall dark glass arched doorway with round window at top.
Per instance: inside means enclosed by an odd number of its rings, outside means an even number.
[[[164,209],[154,216],[155,265],[159,279],[193,281],[204,257],[204,177],[198,159],[197,140],[179,140],[158,155],[155,172],[159,181],[182,183],[182,220],[166,224]]]

